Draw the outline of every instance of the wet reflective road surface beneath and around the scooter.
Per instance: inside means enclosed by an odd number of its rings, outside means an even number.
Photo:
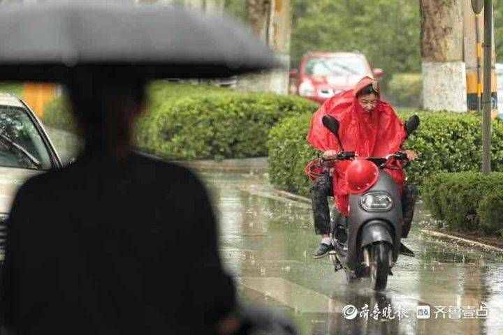
[[[503,334],[502,255],[422,234],[423,211],[404,240],[416,258],[400,256],[387,290],[376,293],[347,285],[328,258],[311,258],[319,237],[309,204],[273,196],[262,175],[200,176],[212,192],[221,256],[240,299],[286,313],[301,334]],[[347,305],[357,310],[342,313]],[[429,319],[418,318],[418,306],[420,314],[430,308]]]

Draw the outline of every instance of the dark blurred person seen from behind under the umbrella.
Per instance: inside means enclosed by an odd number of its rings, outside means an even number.
[[[85,151],[15,197],[3,331],[245,334],[205,187],[131,149],[144,83],[82,74],[68,91]]]

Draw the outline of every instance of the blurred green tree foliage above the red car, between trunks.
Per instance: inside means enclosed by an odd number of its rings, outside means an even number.
[[[292,66],[310,50],[363,52],[372,67],[421,70],[418,1],[293,0]]]

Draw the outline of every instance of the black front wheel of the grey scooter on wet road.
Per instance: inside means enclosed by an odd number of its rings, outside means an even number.
[[[367,246],[370,250],[370,285],[376,291],[386,289],[390,270],[390,244],[379,242]]]

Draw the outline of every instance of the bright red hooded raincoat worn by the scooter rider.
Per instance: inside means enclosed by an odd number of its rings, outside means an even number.
[[[339,136],[344,151],[355,151],[358,156],[384,157],[399,151],[407,137],[404,124],[397,117],[393,107],[379,100],[372,112],[365,112],[356,94],[375,80],[365,77],[353,90],[344,91],[333,96],[317,110],[311,120],[311,128],[307,141],[312,147],[321,151],[337,150],[337,138],[323,126],[323,115],[331,115],[340,122]],[[333,189],[337,209],[347,216],[349,214],[349,189],[345,178],[345,170],[349,161],[338,161],[333,171]],[[385,171],[395,179],[400,186],[404,183],[404,172],[400,161],[392,161]]]

